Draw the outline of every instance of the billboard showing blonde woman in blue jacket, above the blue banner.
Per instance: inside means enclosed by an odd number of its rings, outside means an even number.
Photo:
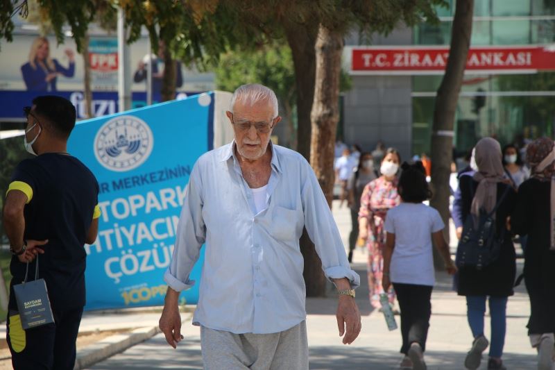
[[[13,42],[3,42],[0,53],[0,120],[23,121],[21,107],[35,96],[57,94],[71,100],[78,108],[78,118],[85,118],[83,104],[83,56],[76,53],[74,40],[56,44],[53,36],[39,37],[19,33]],[[117,38],[100,35],[90,38],[89,63],[95,117],[118,112]],[[160,87],[164,63],[148,51],[142,38],[130,45],[133,108],[146,106],[146,68],[153,71],[153,102],[161,101]],[[200,73],[194,67],[178,63],[176,98],[214,90],[214,75]]]

